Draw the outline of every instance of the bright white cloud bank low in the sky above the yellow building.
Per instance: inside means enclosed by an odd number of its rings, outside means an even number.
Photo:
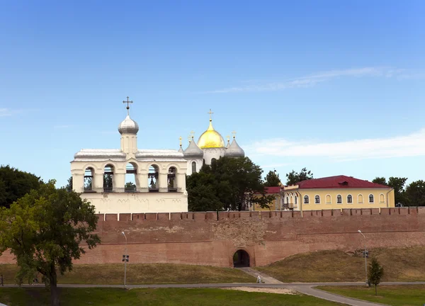
[[[354,159],[425,156],[425,128],[405,136],[345,142],[263,140],[246,147],[246,151],[262,157],[324,157],[339,162]]]

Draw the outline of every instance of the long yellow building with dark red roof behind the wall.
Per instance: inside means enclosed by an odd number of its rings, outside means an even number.
[[[282,193],[283,209],[290,210],[395,207],[394,189],[351,176],[300,181]]]

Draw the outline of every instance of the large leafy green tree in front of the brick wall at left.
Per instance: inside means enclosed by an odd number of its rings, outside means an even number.
[[[49,181],[0,210],[0,255],[9,249],[15,256],[19,285],[40,273],[57,306],[57,273],[72,270],[72,260],[85,253],[81,242],[89,249],[100,243],[92,234],[97,220],[93,205]]]

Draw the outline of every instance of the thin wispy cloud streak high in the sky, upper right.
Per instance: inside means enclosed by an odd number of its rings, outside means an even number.
[[[207,91],[209,94],[225,94],[232,92],[246,92],[246,91],[279,91],[291,88],[305,88],[311,87],[324,81],[330,81],[339,77],[386,77],[397,79],[412,79],[412,77],[420,77],[423,74],[412,74],[407,69],[397,69],[390,67],[363,67],[356,69],[344,70],[329,70],[326,72],[318,72],[304,77],[297,77],[293,79],[286,79],[284,81],[268,82],[265,84],[252,84],[254,81],[246,86],[230,87],[227,89],[217,89],[214,91]]]

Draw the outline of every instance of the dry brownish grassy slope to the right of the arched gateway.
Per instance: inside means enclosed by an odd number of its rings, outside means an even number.
[[[372,249],[384,267],[382,281],[425,280],[425,246]],[[317,251],[290,256],[268,266],[257,267],[283,282],[334,282],[365,280],[365,259],[343,251]]]

